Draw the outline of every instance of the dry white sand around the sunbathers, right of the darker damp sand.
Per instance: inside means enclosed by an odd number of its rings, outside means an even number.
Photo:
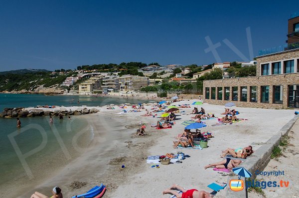
[[[195,100],[182,101],[174,104],[191,104]],[[206,111],[215,113],[215,116],[224,112],[224,106],[203,104]],[[191,105],[191,107],[194,107]],[[111,198],[130,197],[130,198],[167,198],[169,195],[162,195],[161,192],[169,188],[172,184],[179,184],[186,189],[196,188],[212,192],[207,185],[216,182],[221,184],[227,182],[227,177],[221,176],[212,169],[204,170],[204,166],[210,163],[221,161],[219,157],[221,151],[226,148],[245,147],[249,144],[256,150],[259,146],[253,143],[266,142],[273,134],[277,133],[290,119],[294,117],[294,110],[273,110],[273,109],[254,109],[237,107],[240,114],[238,118],[245,118],[248,121],[212,127],[216,120],[208,120],[206,128],[202,131],[212,131],[214,138],[208,142],[208,148],[203,150],[180,150],[172,148],[174,136],[182,132],[184,126],[180,123],[190,119],[193,108],[183,108],[187,114],[182,115],[176,121],[172,129],[157,130],[157,133],[166,133],[162,139],[156,140],[155,146],[149,149],[150,155],[164,155],[166,153],[184,152],[191,156],[183,160],[182,164],[160,165],[159,169],[149,168],[150,164],[144,162],[148,167],[145,172],[132,175],[128,183],[115,191]],[[247,159],[250,160],[250,157]],[[224,191],[217,194],[218,198],[224,197]]]

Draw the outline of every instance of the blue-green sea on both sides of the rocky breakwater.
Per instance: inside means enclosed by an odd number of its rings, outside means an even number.
[[[78,104],[79,101],[79,104]],[[0,94],[0,111],[4,108],[50,106],[104,106],[107,104],[148,103],[149,100],[81,95],[46,96],[39,94]],[[54,117],[20,118],[21,128],[15,118],[0,118],[0,189],[15,181],[26,182],[36,177],[45,167],[55,167],[57,159],[63,164],[80,153],[76,146],[88,147],[93,139],[93,128],[88,120],[72,116],[71,120]],[[80,133],[74,146],[74,136]],[[72,151],[72,152],[71,152]]]

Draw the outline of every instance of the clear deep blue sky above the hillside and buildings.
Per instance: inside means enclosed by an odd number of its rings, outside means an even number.
[[[286,43],[288,19],[298,5],[298,0],[1,0],[0,71],[248,61],[260,49]]]

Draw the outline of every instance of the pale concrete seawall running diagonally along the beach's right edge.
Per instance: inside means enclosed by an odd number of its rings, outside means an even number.
[[[291,128],[299,118],[299,115],[295,116],[293,119],[291,119],[283,128],[280,129],[280,131],[273,135],[266,143],[263,144],[262,147],[260,147],[258,150],[255,151],[254,154],[252,154],[251,157],[248,158],[244,163],[242,163],[242,167],[244,167],[246,170],[248,170],[250,173],[252,173],[251,179],[255,179],[256,175],[254,174],[256,170],[264,170],[268,163],[271,160],[271,153],[273,151],[273,148],[275,146],[279,145],[279,142],[281,141],[283,136],[286,136],[289,134]],[[245,179],[241,178],[244,181]],[[226,189],[226,197],[227,198],[247,198],[247,189],[244,187],[243,191],[234,192],[231,191],[229,188],[229,182],[231,180],[238,180],[238,176],[236,176],[234,173],[231,173],[227,180],[227,189]]]

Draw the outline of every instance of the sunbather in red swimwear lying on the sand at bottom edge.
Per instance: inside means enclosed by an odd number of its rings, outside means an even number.
[[[178,194],[176,191],[173,191],[171,189],[177,189],[182,192],[182,194]],[[169,189],[166,189],[162,193],[165,194],[171,194],[174,195],[177,198],[213,198],[214,196],[205,192],[205,191],[197,191],[196,189],[191,190],[185,190],[184,188],[178,186],[178,185],[172,185]]]

